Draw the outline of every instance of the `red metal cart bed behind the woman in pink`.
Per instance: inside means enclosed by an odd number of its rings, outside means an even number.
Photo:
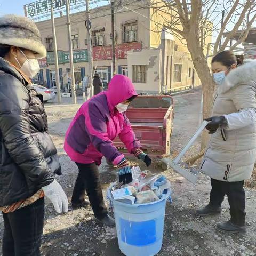
[[[145,153],[155,157],[170,154],[173,109],[171,96],[139,96],[132,101],[126,115]],[[127,152],[119,138],[114,144],[119,150]]]

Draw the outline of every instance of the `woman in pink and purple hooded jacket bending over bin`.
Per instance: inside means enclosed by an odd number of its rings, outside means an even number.
[[[103,156],[118,166],[119,181],[130,183],[132,173],[124,155],[113,145],[119,136],[130,153],[142,159],[147,166],[151,159],[141,150],[125,111],[137,97],[130,79],[116,75],[111,79],[108,91],[86,101],[77,111],[65,138],[65,151],[78,166],[78,177],[71,203],[73,208],[85,206],[85,191],[89,197],[95,218],[107,226],[115,221],[108,215],[103,201],[98,166]]]

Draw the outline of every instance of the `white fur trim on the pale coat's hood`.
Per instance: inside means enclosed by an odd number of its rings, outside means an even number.
[[[233,87],[250,81],[253,81],[256,87],[256,60],[245,61],[244,65],[231,70],[225,81],[219,85],[218,93],[226,93]]]

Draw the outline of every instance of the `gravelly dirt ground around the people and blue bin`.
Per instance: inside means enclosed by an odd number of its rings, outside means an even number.
[[[201,92],[177,95],[175,100],[174,129],[171,138],[171,153],[177,154],[186,141],[193,135],[198,125]],[[57,177],[66,191],[69,201],[76,180],[77,168],[63,151],[63,138],[67,127],[79,105],[71,105],[70,99],[61,106],[55,103],[45,105],[49,117],[50,133],[58,148],[62,165],[62,176]],[[82,99],[79,99],[82,103]],[[188,155],[197,153],[199,141]],[[145,165],[138,162],[142,170]],[[209,201],[209,178],[201,174],[196,185],[167,170],[162,171],[155,162],[152,172],[163,173],[171,181],[173,204],[167,203],[163,247],[157,255],[255,255],[256,254],[256,191],[246,189],[246,212],[249,234],[225,235],[215,230],[217,221],[229,219],[227,198],[223,203],[221,217],[197,218],[195,210]],[[106,162],[100,166],[103,193],[116,179],[116,170]],[[42,241],[42,256],[121,256],[115,228],[106,228],[93,217],[90,207],[58,215],[46,199],[45,227]],[[111,211],[110,211],[111,212]],[[3,220],[0,219],[0,237],[3,236]],[[1,254],[1,252],[0,252]],[[137,255],[134,255],[137,256]],[[148,256],[148,255],[145,255]]]

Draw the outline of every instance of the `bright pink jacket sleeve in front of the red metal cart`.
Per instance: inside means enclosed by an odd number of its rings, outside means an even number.
[[[131,123],[126,114],[124,114],[123,130],[119,133],[119,138],[124,143],[129,153],[133,153],[136,148],[141,148],[140,141],[135,137]]]

